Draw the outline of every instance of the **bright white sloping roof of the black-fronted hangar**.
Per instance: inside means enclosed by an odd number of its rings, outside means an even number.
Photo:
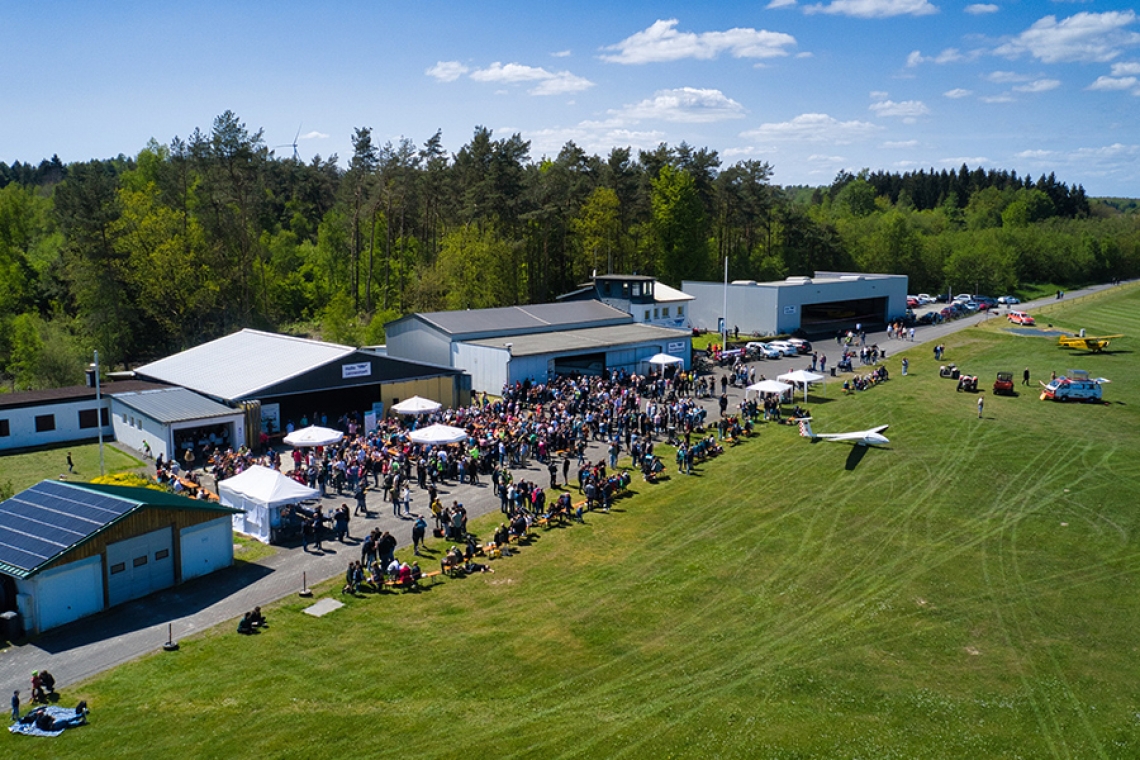
[[[215,399],[237,400],[336,361],[356,349],[243,329],[135,370]]]

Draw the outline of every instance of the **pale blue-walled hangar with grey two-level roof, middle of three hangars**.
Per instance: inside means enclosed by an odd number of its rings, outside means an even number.
[[[384,326],[388,353],[448,363],[477,391],[555,375],[645,373],[657,353],[691,359],[691,333],[638,324],[595,300],[413,313]]]

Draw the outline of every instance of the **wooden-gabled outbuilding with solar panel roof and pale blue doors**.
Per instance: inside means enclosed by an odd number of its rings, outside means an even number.
[[[238,509],[41,481],[0,502],[0,607],[42,632],[234,563]]]

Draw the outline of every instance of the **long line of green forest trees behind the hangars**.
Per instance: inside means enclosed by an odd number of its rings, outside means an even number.
[[[905,273],[915,291],[1073,286],[1140,273],[1140,226],[1050,174],[841,172],[659,145],[535,160],[477,126],[457,152],[352,134],[352,156],[277,156],[234,113],[138,155],[0,163],[0,376],[66,385],[241,327],[383,341],[409,311],[549,301],[592,272],[777,279]],[[1133,209],[1134,210],[1134,209]]]

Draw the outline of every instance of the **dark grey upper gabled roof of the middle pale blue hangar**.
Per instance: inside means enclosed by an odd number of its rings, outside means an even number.
[[[499,309],[430,311],[415,316],[453,336],[490,332],[506,334],[549,330],[556,329],[559,326],[578,327],[591,322],[618,322],[632,319],[628,313],[601,301],[564,301]]]

